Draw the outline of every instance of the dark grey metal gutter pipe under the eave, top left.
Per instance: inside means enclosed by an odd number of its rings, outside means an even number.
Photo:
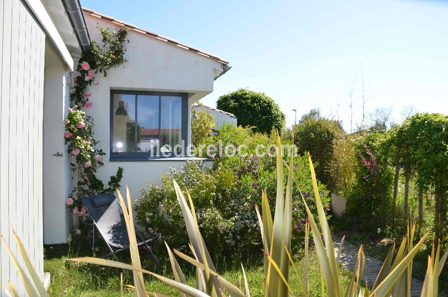
[[[86,20],[79,0],[62,0],[68,19],[75,31],[81,50],[86,52],[90,50],[90,35],[87,30]]]

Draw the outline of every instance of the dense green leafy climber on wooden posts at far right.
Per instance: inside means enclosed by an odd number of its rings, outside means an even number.
[[[434,193],[436,241],[447,224],[448,116],[417,113],[389,132],[390,157],[395,162],[392,216],[396,215],[398,176],[404,174],[404,213],[408,213],[409,181],[418,187],[419,220],[423,221],[423,192]]]

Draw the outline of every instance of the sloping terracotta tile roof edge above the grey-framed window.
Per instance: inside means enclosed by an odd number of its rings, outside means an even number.
[[[99,12],[96,12],[96,11],[94,11],[94,10],[92,10],[92,9],[83,7],[83,11],[84,11],[85,14],[88,14],[88,15],[97,17],[97,18],[99,18],[99,19],[108,21],[108,22],[113,23],[113,24],[115,24],[115,25],[117,25],[117,26],[121,26],[121,27],[129,28],[129,29],[131,29],[131,30],[133,30],[133,31],[136,31],[136,32],[138,32],[138,33],[145,34],[146,36],[149,36],[149,37],[158,39],[158,40],[160,40],[160,41],[166,42],[166,43],[168,43],[168,44],[170,44],[170,45],[179,47],[179,48],[181,48],[181,49],[186,49],[186,50],[192,51],[192,52],[194,52],[194,53],[200,54],[200,55],[205,56],[205,57],[207,57],[207,58],[210,58],[210,59],[212,59],[212,60],[215,60],[215,61],[218,61],[218,62],[220,62],[220,63],[223,63],[223,64],[225,64],[225,65],[228,65],[228,64],[229,64],[229,61],[224,60],[224,59],[220,58],[220,57],[217,56],[217,55],[214,55],[214,54],[205,52],[205,51],[200,50],[200,49],[196,49],[196,48],[194,48],[194,47],[190,47],[190,46],[188,46],[188,45],[186,45],[186,44],[182,44],[182,43],[180,43],[180,42],[177,41],[177,40],[174,40],[174,39],[171,39],[171,38],[168,38],[168,37],[159,35],[159,34],[157,34],[157,33],[154,33],[154,32],[151,32],[151,31],[148,31],[148,30],[139,28],[139,27],[137,27],[137,26],[135,26],[135,25],[132,25],[132,24],[129,24],[129,23],[126,23],[126,22],[117,20],[117,19],[115,19],[115,18],[113,18],[113,17],[111,17],[111,16],[108,16],[108,15],[105,15],[105,14],[102,14],[102,13],[99,13]]]

